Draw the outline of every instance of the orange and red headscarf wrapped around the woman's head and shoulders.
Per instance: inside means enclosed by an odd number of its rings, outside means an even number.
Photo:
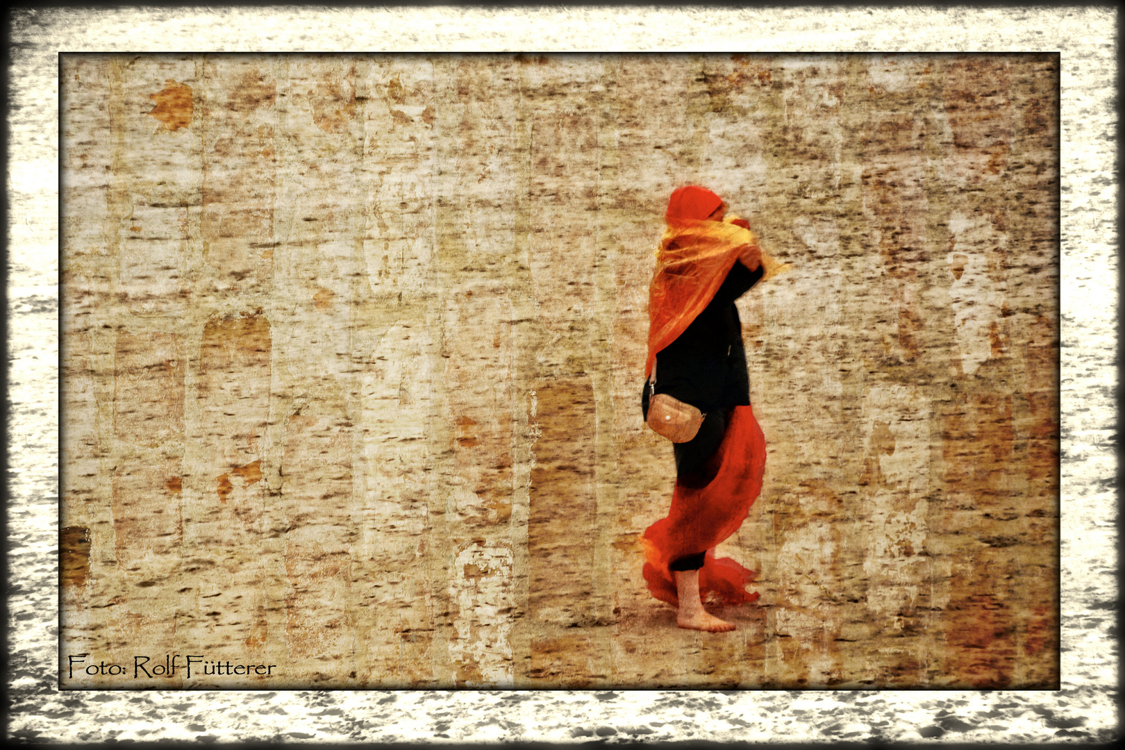
[[[687,186],[672,193],[665,214],[667,228],[656,251],[656,271],[648,292],[648,360],[645,377],[652,372],[656,354],[687,329],[719,291],[742,250],[758,238],[749,224],[732,215],[708,220],[722,199],[705,188]],[[762,254],[763,279],[785,270]]]

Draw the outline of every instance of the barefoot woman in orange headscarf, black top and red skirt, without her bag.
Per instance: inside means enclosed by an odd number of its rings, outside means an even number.
[[[703,609],[714,593],[754,602],[754,578],[713,548],[741,525],[762,490],[765,439],[750,408],[746,352],[735,300],[786,266],[763,255],[742,219],[728,217],[716,193],[695,186],[672,193],[667,229],[649,289],[649,396],[668,394],[705,417],[699,433],[674,443],[676,486],[666,518],[645,532],[645,579],[656,598],[678,607],[681,627],[710,632],[735,625]],[[726,219],[726,220],[724,220]]]

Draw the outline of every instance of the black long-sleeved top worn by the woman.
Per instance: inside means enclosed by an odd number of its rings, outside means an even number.
[[[703,413],[749,405],[742,324],[735,300],[749,291],[764,272],[762,266],[749,271],[735,262],[711,302],[674,342],[657,352],[657,394],[668,394]],[[641,409],[647,418],[648,383]]]

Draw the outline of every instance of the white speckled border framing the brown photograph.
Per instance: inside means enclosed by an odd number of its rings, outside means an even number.
[[[19,11],[8,114],[10,739],[1082,742],[1116,735],[1115,28],[1108,10],[1066,8]],[[668,47],[668,39],[680,42]],[[656,48],[1062,53],[1063,689],[57,692],[57,53]]]

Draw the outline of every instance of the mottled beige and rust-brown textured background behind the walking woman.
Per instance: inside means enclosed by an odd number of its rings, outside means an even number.
[[[64,56],[61,656],[127,672],[63,685],[1058,686],[1058,71]],[[795,268],[731,635],[640,576],[688,182]]]

